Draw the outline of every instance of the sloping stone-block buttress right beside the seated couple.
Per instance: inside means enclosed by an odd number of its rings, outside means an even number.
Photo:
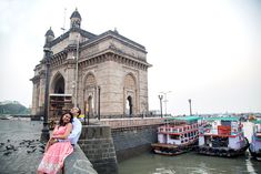
[[[83,125],[78,144],[99,174],[118,174],[110,126]]]

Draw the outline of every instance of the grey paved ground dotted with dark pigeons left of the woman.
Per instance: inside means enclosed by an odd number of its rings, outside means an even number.
[[[42,122],[0,120],[0,173],[36,173],[44,144]]]

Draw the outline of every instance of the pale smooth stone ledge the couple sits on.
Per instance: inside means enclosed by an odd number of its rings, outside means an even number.
[[[64,161],[64,173],[98,174],[78,144],[76,145],[73,153]]]

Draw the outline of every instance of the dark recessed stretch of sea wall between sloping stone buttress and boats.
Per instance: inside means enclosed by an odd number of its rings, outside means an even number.
[[[151,150],[151,143],[157,142],[158,125],[121,127],[112,130],[118,161],[130,158]]]

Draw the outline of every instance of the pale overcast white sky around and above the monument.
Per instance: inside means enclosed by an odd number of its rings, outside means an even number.
[[[76,8],[82,29],[145,47],[150,110],[163,94],[173,115],[189,114],[189,99],[198,114],[261,112],[259,0],[1,0],[0,101],[31,105],[44,34],[68,30]]]

